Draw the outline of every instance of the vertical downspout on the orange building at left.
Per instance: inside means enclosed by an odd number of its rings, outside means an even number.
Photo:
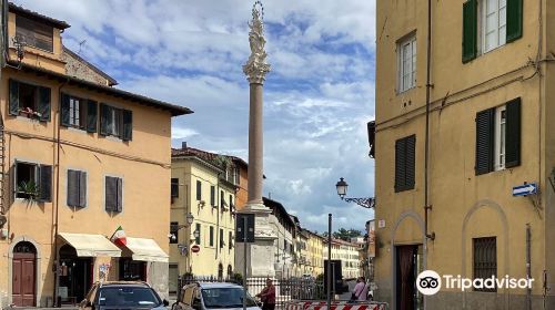
[[[52,297],[52,302],[56,307],[60,307],[58,304],[58,283],[59,283],[59,272],[58,272],[58,232],[59,232],[59,215],[60,215],[60,151],[61,151],[61,141],[60,141],[60,134],[61,134],[61,97],[62,97],[62,87],[65,86],[69,82],[69,79],[67,79],[59,87],[58,87],[58,108],[57,108],[57,114],[56,114],[56,120],[57,122],[53,122],[53,125],[57,126],[54,130],[57,132],[57,137],[56,137],[56,146],[57,146],[57,154],[56,154],[56,199],[54,199],[54,213],[56,213],[56,224],[54,224],[54,241],[53,241],[53,262],[52,262],[52,270],[54,271],[54,286],[53,286],[53,297]]]

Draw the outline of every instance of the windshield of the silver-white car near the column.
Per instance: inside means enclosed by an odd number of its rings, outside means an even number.
[[[202,289],[202,300],[206,308],[240,308],[243,307],[242,288],[213,288]],[[256,307],[256,302],[249,293],[246,294],[246,307]]]

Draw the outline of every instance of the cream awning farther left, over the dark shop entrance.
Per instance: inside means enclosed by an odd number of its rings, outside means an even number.
[[[102,235],[58,234],[63,240],[75,248],[79,257],[121,257],[121,250]]]

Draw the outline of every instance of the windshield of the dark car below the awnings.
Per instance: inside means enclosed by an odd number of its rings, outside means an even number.
[[[100,306],[123,306],[153,308],[160,306],[160,298],[150,288],[140,287],[104,287],[100,289]]]

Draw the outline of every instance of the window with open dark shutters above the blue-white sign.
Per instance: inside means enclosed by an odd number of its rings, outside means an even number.
[[[476,175],[521,165],[521,99],[476,114]]]

